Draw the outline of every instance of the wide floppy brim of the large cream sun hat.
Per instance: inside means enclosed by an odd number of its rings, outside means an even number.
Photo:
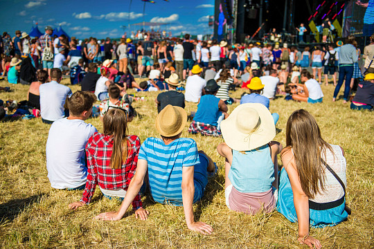
[[[238,117],[239,111],[248,107],[256,109],[261,120],[256,132],[251,133],[250,136],[249,134],[238,131],[236,128],[237,118],[247,118]],[[258,103],[240,104],[236,107],[236,109],[230,114],[229,118],[226,118],[226,120],[221,122],[221,131],[226,145],[236,151],[249,151],[251,149],[256,149],[271,142],[271,140],[276,136],[274,119],[271,116],[270,111],[265,107],[265,105]]]

